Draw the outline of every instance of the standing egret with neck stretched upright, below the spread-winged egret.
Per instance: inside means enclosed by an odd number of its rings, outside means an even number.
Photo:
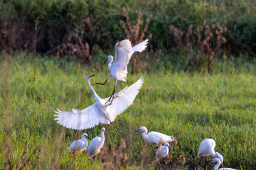
[[[105,128],[102,127],[100,137],[96,136],[90,142],[88,146],[88,151],[87,151],[87,155],[89,155],[89,157],[93,157],[94,155],[97,155],[100,152],[100,149],[104,145],[104,141],[105,141],[104,132],[105,132]]]

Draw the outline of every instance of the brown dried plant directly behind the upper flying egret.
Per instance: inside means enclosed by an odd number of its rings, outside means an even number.
[[[125,8],[123,8],[122,14],[126,18],[126,22],[124,22],[124,20],[119,21],[119,24],[123,27],[123,29],[125,31],[125,38],[130,39],[132,45],[137,45],[141,41],[145,40],[145,33],[147,32],[150,18],[153,17],[153,15],[150,15],[147,18],[147,22],[144,25],[143,31],[140,32],[142,13],[137,10],[136,10],[136,13],[137,13],[137,20],[136,20],[136,24],[133,26],[131,25],[130,18],[128,17],[128,13]],[[152,34],[149,34],[148,38],[152,38]],[[139,65],[140,67],[143,66],[144,61],[147,60],[147,58],[148,58],[148,55],[145,55],[144,57],[142,57],[142,56],[143,55],[141,55],[141,57],[139,57],[138,53],[134,53],[134,55],[132,56],[132,58],[131,58],[132,59],[132,74],[137,71],[137,69],[136,69],[137,65]]]

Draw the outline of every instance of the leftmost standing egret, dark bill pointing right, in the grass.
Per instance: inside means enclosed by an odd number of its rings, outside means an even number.
[[[77,141],[74,141],[68,148],[67,152],[82,152],[83,150],[86,150],[88,146],[88,142],[85,138],[89,138],[89,136],[86,133],[83,133],[81,136],[82,139],[79,139]]]

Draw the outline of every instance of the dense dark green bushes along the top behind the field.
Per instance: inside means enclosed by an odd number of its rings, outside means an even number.
[[[98,45],[104,52],[113,49],[116,41],[126,38],[119,21],[125,20],[122,8],[126,8],[132,25],[136,23],[136,10],[143,14],[141,28],[150,15],[150,24],[146,37],[152,34],[149,48],[154,52],[178,53],[177,43],[169,26],[175,25],[186,32],[189,25],[193,28],[212,25],[217,22],[227,27],[223,34],[226,43],[221,51],[228,57],[240,53],[255,55],[256,3],[254,0],[163,0],[163,1],[83,1],[83,0],[12,0],[3,1],[1,5],[1,29],[15,28],[19,38],[13,47],[15,50],[33,50],[35,22],[38,23],[36,51],[49,52],[65,40],[68,32],[77,28],[83,43],[87,42],[92,50]],[[86,22],[90,18],[90,22]],[[81,27],[81,24],[85,27]],[[196,36],[191,36],[191,40]],[[2,41],[1,45],[6,43]],[[214,42],[213,42],[214,43]],[[7,43],[8,44],[8,43]],[[195,46],[194,46],[195,48]],[[3,50],[3,48],[2,48]],[[54,51],[56,53],[56,51]],[[179,57],[176,55],[176,57]]]

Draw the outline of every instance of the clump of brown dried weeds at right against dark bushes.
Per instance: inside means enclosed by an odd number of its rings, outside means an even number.
[[[172,32],[175,43],[178,45],[179,52],[188,54],[193,50],[193,46],[197,46],[198,53],[201,55],[199,60],[195,56],[189,59],[184,71],[188,69],[188,66],[202,67],[207,65],[207,71],[210,73],[212,60],[217,57],[221,45],[226,41],[222,35],[225,31],[227,31],[227,27],[223,29],[218,23],[210,26],[205,21],[203,25],[196,27],[195,31],[193,31],[193,25],[190,25],[186,34],[179,31],[174,25],[170,25],[170,32]],[[196,39],[189,40],[193,33]]]

